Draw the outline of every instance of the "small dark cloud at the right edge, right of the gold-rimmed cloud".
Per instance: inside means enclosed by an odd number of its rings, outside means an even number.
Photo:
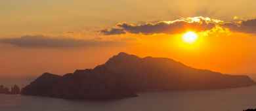
[[[231,31],[256,34],[256,19],[242,20],[240,22],[229,22],[223,24],[223,27],[228,28]]]

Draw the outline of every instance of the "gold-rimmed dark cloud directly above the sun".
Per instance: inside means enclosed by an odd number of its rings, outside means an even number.
[[[194,18],[181,18],[174,21],[161,21],[156,23],[146,23],[146,24],[117,24],[116,27],[111,29],[104,29],[101,32],[104,35],[119,35],[128,33],[135,34],[154,34],[154,33],[165,33],[165,34],[175,34],[181,33],[187,30],[193,31],[206,31],[213,29],[221,20],[214,20],[211,18],[204,17],[194,17]]]

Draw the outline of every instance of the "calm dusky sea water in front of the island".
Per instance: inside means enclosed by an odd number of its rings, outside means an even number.
[[[104,102],[0,95],[1,111],[242,111],[247,108],[256,108],[256,86],[143,93],[136,98]]]

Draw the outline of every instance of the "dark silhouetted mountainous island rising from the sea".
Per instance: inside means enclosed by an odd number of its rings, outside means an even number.
[[[188,67],[167,58],[119,53],[95,69],[57,76],[45,73],[22,89],[24,95],[65,99],[121,99],[139,91],[219,89],[255,84],[247,76],[232,76]]]

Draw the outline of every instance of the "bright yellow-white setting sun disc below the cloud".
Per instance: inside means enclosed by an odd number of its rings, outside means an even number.
[[[188,31],[184,33],[184,35],[182,36],[182,40],[189,44],[196,42],[197,39],[198,39],[198,35],[193,31]]]

